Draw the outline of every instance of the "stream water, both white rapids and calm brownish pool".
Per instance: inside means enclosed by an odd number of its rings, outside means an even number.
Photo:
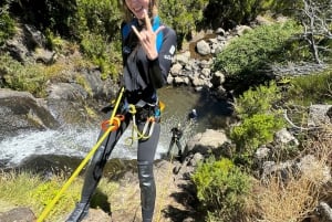
[[[162,134],[156,159],[167,152],[170,141],[170,128],[181,124],[183,145],[196,133],[206,128],[222,127],[224,119],[230,114],[226,102],[218,102],[208,92],[195,93],[188,87],[165,87],[159,91],[159,98],[165,104],[162,117]],[[198,113],[196,123],[187,120],[188,113],[195,108]],[[62,165],[74,161],[77,165],[95,145],[98,136],[95,128],[61,128],[56,130],[31,131],[0,141],[0,168],[17,167],[25,162],[29,168],[37,166]],[[136,142],[128,146],[131,126],[125,131],[111,155],[111,159],[135,159]],[[29,163],[27,163],[29,162]]]

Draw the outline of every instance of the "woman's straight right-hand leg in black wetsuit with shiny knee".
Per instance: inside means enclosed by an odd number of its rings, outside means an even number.
[[[137,167],[143,222],[152,222],[154,215],[156,186],[153,163],[159,140],[159,134],[160,125],[156,123],[151,138],[138,141]]]

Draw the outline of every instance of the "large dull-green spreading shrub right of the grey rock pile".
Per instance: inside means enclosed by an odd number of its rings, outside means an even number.
[[[257,27],[234,39],[217,55],[215,68],[225,70],[228,75],[241,75],[263,70],[268,64],[299,60],[293,55],[293,47],[299,45],[292,38],[300,32],[301,27],[291,20]]]

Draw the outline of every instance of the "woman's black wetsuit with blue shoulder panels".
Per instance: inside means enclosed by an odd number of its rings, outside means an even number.
[[[116,131],[102,142],[93,156],[85,172],[85,180],[82,190],[81,201],[75,210],[66,220],[81,221],[87,213],[89,203],[102,177],[104,166],[132,120],[132,114],[128,113],[128,105],[136,106],[136,125],[139,131],[143,130],[146,117],[155,116],[157,121],[154,125],[153,133],[148,139],[139,139],[137,147],[137,167],[141,187],[141,204],[143,222],[152,222],[155,207],[155,181],[153,173],[153,162],[159,140],[159,107],[156,89],[166,84],[167,75],[170,70],[172,59],[176,50],[176,33],[173,29],[165,27],[157,35],[158,57],[154,61],[147,59],[143,47],[139,45],[137,36],[131,25],[138,25],[137,20],[122,25],[122,49],[123,49],[123,85],[125,87],[123,105],[117,113],[125,116]],[[154,31],[160,25],[159,18],[153,19]],[[111,113],[110,113],[111,115]],[[101,131],[101,136],[104,131]]]

